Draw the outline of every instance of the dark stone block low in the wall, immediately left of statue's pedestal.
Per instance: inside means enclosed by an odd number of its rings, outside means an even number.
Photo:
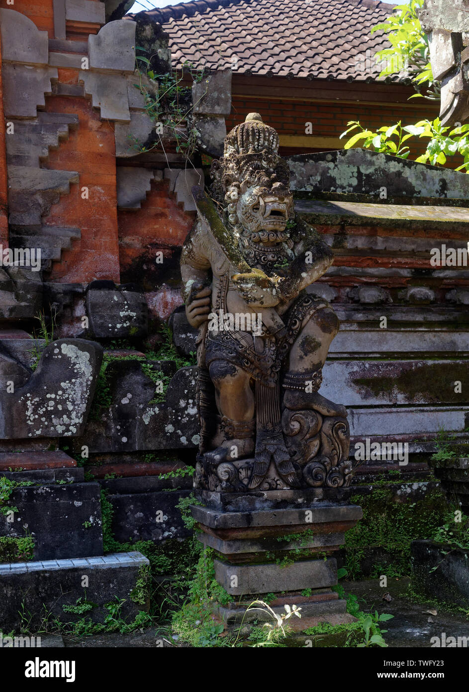
[[[176,504],[188,495],[189,490],[108,495],[114,510],[113,536],[121,543],[187,538],[192,531],[184,526]]]

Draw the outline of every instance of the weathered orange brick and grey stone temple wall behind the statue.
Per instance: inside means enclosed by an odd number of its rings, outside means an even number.
[[[192,481],[167,475],[192,464],[199,444],[196,334],[178,260],[201,154],[220,154],[231,109],[230,73],[210,75],[205,98],[193,89],[190,165],[174,138],[158,148],[134,86],[135,46],[157,46],[169,70],[167,42],[158,25],[110,17],[108,6],[0,0],[0,240],[42,255],[40,271],[0,267],[0,477],[25,484],[9,500],[15,521],[0,514],[0,538],[24,538],[28,525],[36,566],[16,572],[39,591],[50,561],[64,592],[85,561],[100,604],[107,565],[128,597],[147,564],[104,555],[103,507],[121,544],[188,535],[176,504]],[[352,453],[366,438],[407,442],[402,471],[425,484],[439,430],[465,438],[469,428],[469,268],[430,264],[432,248],[467,247],[469,183],[359,149],[289,163],[297,212],[335,254],[310,289],[341,321],[321,392],[347,406]],[[168,319],[174,343],[160,331]],[[369,462],[357,483],[396,467]],[[0,565],[8,601],[14,572]]]

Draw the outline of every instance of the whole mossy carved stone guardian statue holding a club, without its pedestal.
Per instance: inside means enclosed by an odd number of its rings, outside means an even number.
[[[214,203],[183,246],[187,319],[199,327],[201,445],[196,488],[246,492],[347,486],[344,406],[318,393],[339,322],[305,289],[331,266],[295,216],[279,137],[259,113],[226,136]]]

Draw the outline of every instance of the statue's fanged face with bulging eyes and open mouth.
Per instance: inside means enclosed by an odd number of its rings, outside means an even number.
[[[236,212],[241,226],[251,234],[259,233],[261,242],[282,242],[292,209],[290,195],[281,197],[265,188],[248,188],[239,197]]]

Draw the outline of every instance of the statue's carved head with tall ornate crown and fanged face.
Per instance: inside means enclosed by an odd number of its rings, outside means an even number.
[[[214,197],[223,203],[228,224],[253,243],[288,242],[293,196],[278,147],[275,129],[250,113],[226,136],[223,158],[212,165]]]

